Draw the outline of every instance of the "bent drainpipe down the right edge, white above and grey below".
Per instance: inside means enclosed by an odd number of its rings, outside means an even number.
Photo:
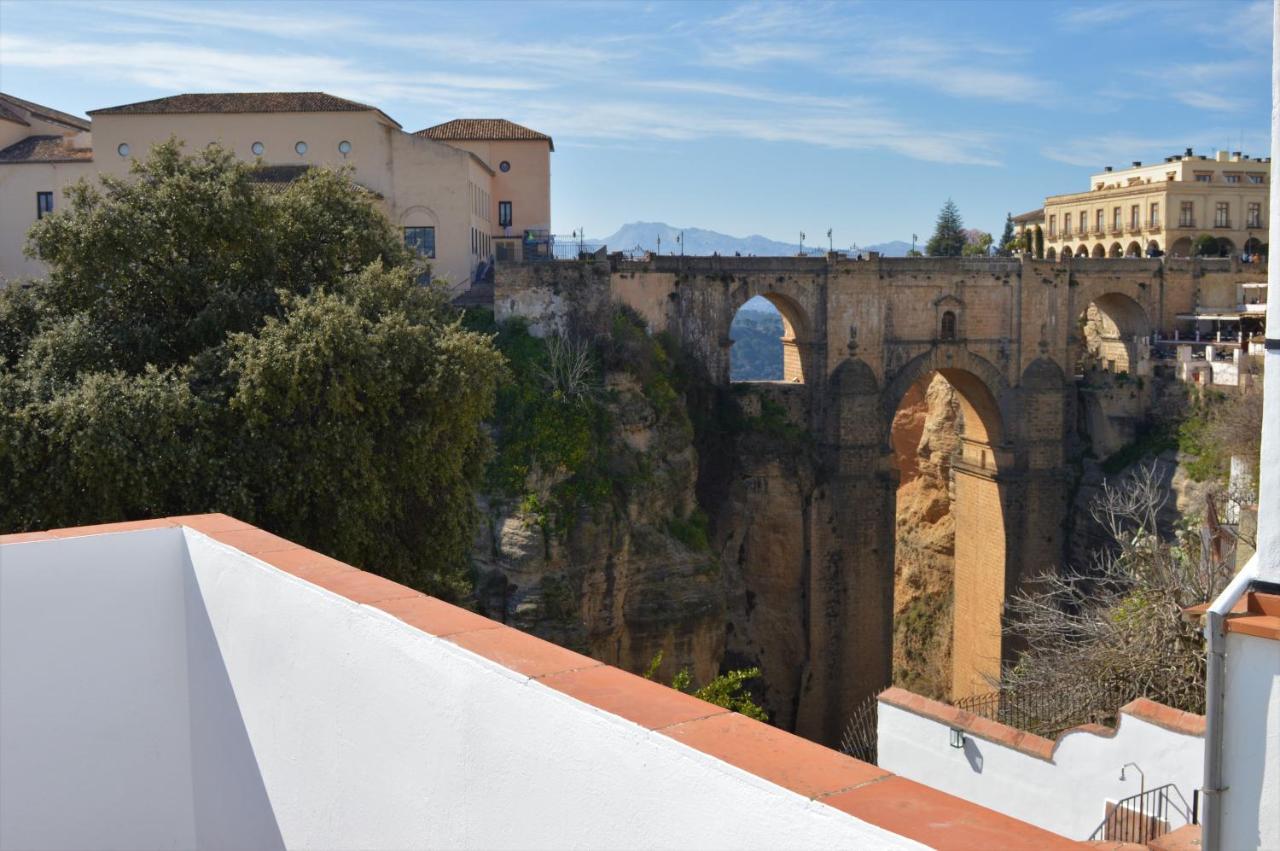
[[[1271,37],[1280,37],[1280,5],[1271,6]],[[1280,163],[1280,50],[1271,58],[1271,163]],[[1272,171],[1272,178],[1275,171]],[[1280,192],[1270,193],[1270,244],[1280,251]],[[1280,258],[1267,256],[1267,328],[1263,369],[1262,463],[1258,465],[1258,546],[1249,563],[1213,600],[1204,618],[1207,642],[1204,695],[1204,813],[1202,847],[1221,851],[1222,839],[1222,706],[1226,695],[1224,621],[1254,580],[1280,582]]]

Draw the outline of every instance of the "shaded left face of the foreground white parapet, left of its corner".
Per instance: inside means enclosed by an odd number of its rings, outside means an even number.
[[[0,546],[0,848],[191,848],[178,530]]]

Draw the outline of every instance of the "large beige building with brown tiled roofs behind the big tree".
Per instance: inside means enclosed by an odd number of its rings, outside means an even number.
[[[8,96],[3,102],[10,100],[22,102]],[[465,119],[408,133],[375,106],[324,92],[175,95],[91,110],[90,116],[91,146],[90,124],[79,120],[76,129],[83,137],[45,143],[47,156],[28,154],[31,134],[0,151],[6,224],[0,278],[41,271],[20,253],[36,220],[35,192],[52,193],[56,206],[68,182],[124,175],[170,137],[188,150],[218,142],[271,166],[275,179],[307,168],[351,168],[355,180],[379,196],[406,244],[431,260],[433,274],[454,289],[465,289],[492,264],[495,237],[550,228],[552,139],[504,119]],[[73,143],[81,146],[74,169],[51,159]]]

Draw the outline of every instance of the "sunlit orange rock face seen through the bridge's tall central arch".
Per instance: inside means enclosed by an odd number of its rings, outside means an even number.
[[[946,697],[951,681],[955,520],[951,456],[963,417],[941,375],[914,384],[893,418],[900,481],[893,563],[893,683]]]

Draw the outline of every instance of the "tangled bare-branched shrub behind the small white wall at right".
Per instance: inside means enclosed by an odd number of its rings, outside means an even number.
[[[1010,601],[1009,631],[1025,653],[1005,671],[1002,691],[1055,695],[1078,708],[1075,723],[1108,719],[1138,696],[1203,712],[1203,642],[1181,612],[1226,585],[1234,539],[1212,503],[1204,523],[1162,537],[1166,498],[1153,466],[1102,486],[1091,513],[1114,545]]]

